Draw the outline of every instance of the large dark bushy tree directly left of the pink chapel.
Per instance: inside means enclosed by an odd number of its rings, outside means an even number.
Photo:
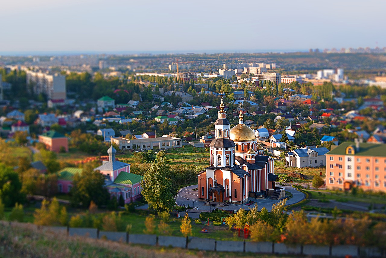
[[[73,206],[89,207],[91,201],[100,207],[107,204],[110,194],[105,188],[105,176],[92,164],[86,164],[80,174],[75,174],[70,191]]]

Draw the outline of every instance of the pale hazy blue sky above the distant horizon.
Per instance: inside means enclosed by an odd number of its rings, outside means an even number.
[[[386,46],[385,0],[3,0],[0,52]]]

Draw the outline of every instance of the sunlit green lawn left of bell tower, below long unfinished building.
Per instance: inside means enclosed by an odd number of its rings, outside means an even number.
[[[166,159],[168,159],[168,163],[171,165],[209,166],[209,151],[205,151],[205,148],[184,145],[181,148],[165,149],[165,151]],[[138,161],[134,153],[117,154],[117,157],[124,162],[135,164]]]

